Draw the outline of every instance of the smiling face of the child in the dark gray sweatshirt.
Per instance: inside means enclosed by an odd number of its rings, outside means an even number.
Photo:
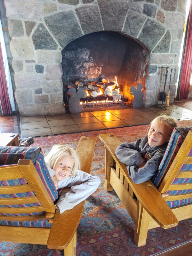
[[[169,141],[171,136],[171,128],[164,122],[155,120],[151,123],[148,131],[148,143],[151,147],[161,146]]]

